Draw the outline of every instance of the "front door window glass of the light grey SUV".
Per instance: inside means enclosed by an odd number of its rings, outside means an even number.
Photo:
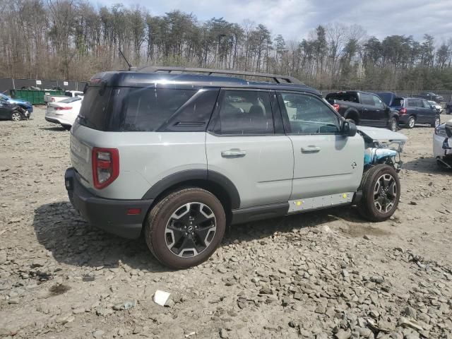
[[[281,93],[289,126],[287,133],[338,133],[338,116],[325,102],[311,95]]]

